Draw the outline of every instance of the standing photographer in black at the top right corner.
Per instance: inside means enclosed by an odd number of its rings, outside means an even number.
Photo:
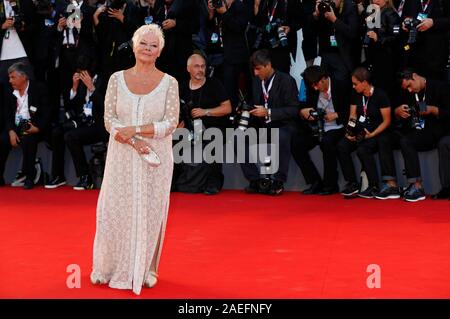
[[[406,66],[427,78],[446,80],[450,1],[405,1],[402,18]]]

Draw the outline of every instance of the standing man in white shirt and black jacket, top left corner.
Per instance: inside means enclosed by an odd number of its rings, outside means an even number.
[[[8,68],[22,62],[33,78],[31,22],[34,19],[32,0],[4,0],[0,3],[0,84],[8,85]]]

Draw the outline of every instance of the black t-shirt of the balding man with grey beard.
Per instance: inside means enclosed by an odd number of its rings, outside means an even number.
[[[216,78],[207,78],[205,84],[197,89],[191,90],[189,88],[189,81],[183,82],[180,86],[180,99],[186,103],[192,101],[193,107],[190,108],[202,108],[212,109],[218,107],[222,102],[228,100],[228,94],[222,83]],[[201,117],[205,128],[208,127],[227,127],[229,122],[229,116],[203,116]]]

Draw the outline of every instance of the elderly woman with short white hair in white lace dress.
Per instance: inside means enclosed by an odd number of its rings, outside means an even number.
[[[110,140],[91,281],[139,294],[157,282],[179,98],[177,81],[155,66],[164,47],[160,28],[142,26],[132,40],[136,65],[111,76],[105,97]]]

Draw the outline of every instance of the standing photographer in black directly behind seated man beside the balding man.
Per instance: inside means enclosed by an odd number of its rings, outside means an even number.
[[[302,3],[298,0],[255,0],[247,32],[252,51],[268,49],[273,67],[288,73],[297,56],[297,31],[301,28]]]

